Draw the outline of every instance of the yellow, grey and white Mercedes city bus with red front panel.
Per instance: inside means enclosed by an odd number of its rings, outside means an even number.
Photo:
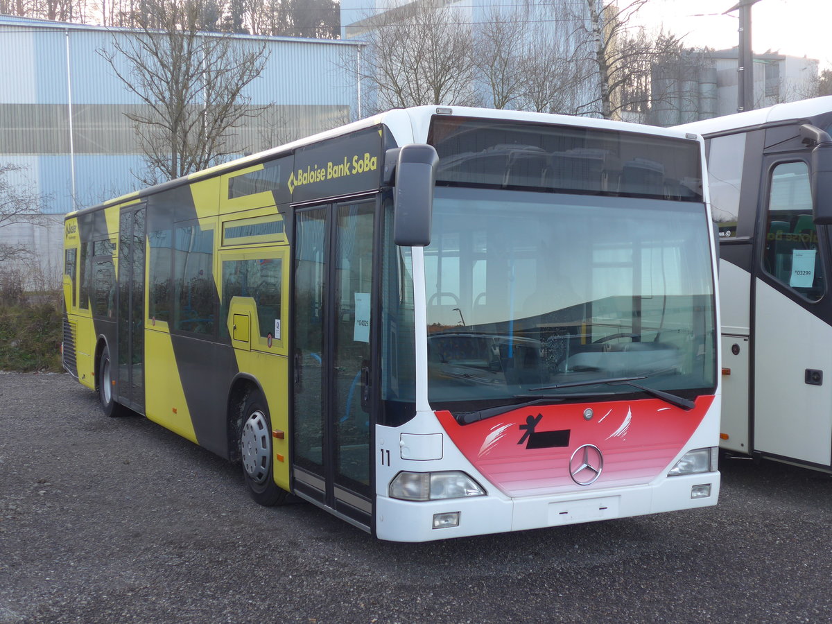
[[[65,367],[383,539],[716,504],[702,147],[423,106],[71,213]]]

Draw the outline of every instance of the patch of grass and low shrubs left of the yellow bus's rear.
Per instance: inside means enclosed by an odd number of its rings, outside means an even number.
[[[62,372],[62,339],[54,303],[0,305],[0,370]]]

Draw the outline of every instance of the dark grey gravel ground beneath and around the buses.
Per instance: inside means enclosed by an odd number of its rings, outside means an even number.
[[[829,622],[832,480],[721,469],[716,508],[380,542],[68,375],[0,374],[0,622]]]

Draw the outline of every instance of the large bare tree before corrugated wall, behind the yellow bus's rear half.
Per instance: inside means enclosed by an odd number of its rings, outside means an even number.
[[[245,146],[234,131],[265,106],[250,106],[243,90],[260,75],[265,44],[201,32],[206,0],[142,0],[141,32],[113,38],[98,50],[126,89],[147,106],[126,113],[146,156],[145,184],[185,176]]]

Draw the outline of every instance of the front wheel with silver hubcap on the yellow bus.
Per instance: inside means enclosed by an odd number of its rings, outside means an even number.
[[[264,507],[287,502],[289,493],[275,483],[274,452],[271,446],[271,419],[265,399],[250,390],[243,401],[240,431],[240,463],[251,498]]]

